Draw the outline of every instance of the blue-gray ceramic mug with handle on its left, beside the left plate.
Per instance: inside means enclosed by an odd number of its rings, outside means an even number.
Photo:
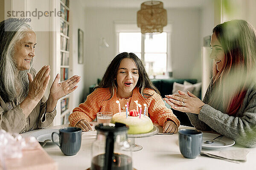
[[[54,141],[54,134],[59,136],[59,144]],[[76,155],[81,147],[82,130],[79,127],[65,127],[59,133],[52,133],[52,142],[61,148],[62,153],[67,156]]]

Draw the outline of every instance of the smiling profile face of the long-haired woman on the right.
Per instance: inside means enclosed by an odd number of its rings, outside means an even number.
[[[222,66],[224,65],[224,51],[221,43],[218,41],[215,33],[212,34],[211,37],[211,47],[212,52],[210,54],[210,58],[215,60],[217,70],[220,71]]]

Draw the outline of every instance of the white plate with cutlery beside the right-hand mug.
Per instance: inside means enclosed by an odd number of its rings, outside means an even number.
[[[235,141],[226,137],[226,136],[221,136],[217,139],[214,140],[212,144],[206,144],[204,143],[205,141],[209,141],[214,139],[215,137],[219,136],[219,134],[215,133],[203,133],[203,144],[202,148],[203,149],[209,149],[209,150],[214,150],[214,149],[221,149],[223,147],[230,147],[235,144]]]

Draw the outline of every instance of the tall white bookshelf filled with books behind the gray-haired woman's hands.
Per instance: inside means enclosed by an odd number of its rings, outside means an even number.
[[[70,50],[70,0],[52,0],[51,9],[61,11],[61,16],[52,17],[51,20],[51,77],[60,74],[60,81],[64,81],[71,77],[72,59]],[[61,97],[58,100],[56,111],[57,115],[53,121],[53,125],[68,124],[68,116],[72,113],[72,93]]]

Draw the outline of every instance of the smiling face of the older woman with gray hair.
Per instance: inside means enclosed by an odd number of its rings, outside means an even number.
[[[27,31],[25,37],[16,43],[13,58],[18,70],[29,70],[31,59],[35,57],[35,45],[36,37],[32,30]]]

